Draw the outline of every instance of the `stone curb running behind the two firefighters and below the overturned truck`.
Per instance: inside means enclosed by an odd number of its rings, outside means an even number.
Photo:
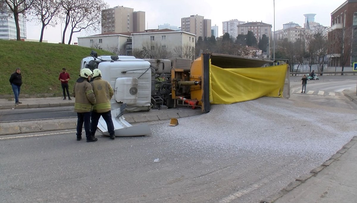
[[[162,115],[152,115],[152,116],[130,116],[128,115],[125,120],[130,124],[137,124],[143,122],[151,121],[164,121],[170,120],[171,118],[185,118],[190,116],[198,116],[203,114],[202,111],[181,111],[181,112],[170,112]],[[124,114],[125,117],[125,114]],[[74,130],[77,128],[77,122],[53,122],[53,123],[36,123],[30,125],[21,125],[17,123],[15,126],[0,126],[0,136],[5,135],[15,135],[23,133],[36,133],[36,132],[46,132],[46,131],[56,131],[56,130]]]

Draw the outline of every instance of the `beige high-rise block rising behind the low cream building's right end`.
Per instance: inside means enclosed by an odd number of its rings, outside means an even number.
[[[204,19],[204,16],[191,15],[190,17],[181,18],[181,31],[195,34],[198,37],[211,36],[211,20]]]

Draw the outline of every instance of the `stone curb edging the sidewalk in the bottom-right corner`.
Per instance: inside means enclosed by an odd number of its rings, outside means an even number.
[[[281,189],[279,192],[276,194],[272,194],[271,196],[268,196],[264,198],[262,201],[259,203],[273,203],[280,197],[284,196],[288,192],[290,192],[292,189],[296,188],[299,186],[301,183],[304,183],[307,179],[316,176],[316,174],[323,169],[325,169],[327,166],[330,166],[331,163],[336,161],[338,158],[342,156],[345,152],[347,152],[348,149],[350,149],[353,144],[357,142],[357,136],[354,136],[347,144],[345,144],[340,150],[338,150],[335,154],[333,154],[329,159],[327,159],[325,162],[321,164],[321,166],[318,166],[310,171],[308,174],[304,174],[302,176],[299,176],[295,179],[295,181],[290,182],[285,188]]]

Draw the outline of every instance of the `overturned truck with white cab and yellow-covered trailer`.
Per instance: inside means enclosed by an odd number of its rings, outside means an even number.
[[[280,64],[280,65],[277,65]],[[262,96],[290,97],[286,61],[252,59],[207,53],[187,59],[137,59],[134,56],[97,56],[81,61],[81,68],[99,68],[114,88],[112,119],[118,136],[151,134],[147,124],[132,126],[124,112],[190,106],[209,112],[212,104],[230,104]],[[104,120],[99,130],[108,135]]]

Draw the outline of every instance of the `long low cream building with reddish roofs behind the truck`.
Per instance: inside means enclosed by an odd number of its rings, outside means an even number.
[[[132,55],[133,49],[165,49],[174,54],[175,47],[195,50],[196,35],[170,29],[152,29],[142,32],[106,32],[97,35],[77,37],[78,46],[106,50],[118,55]],[[174,55],[173,57],[177,57]]]

